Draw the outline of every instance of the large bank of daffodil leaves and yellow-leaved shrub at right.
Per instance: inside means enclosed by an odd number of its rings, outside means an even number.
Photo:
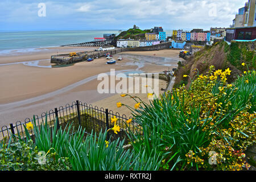
[[[135,151],[160,154],[162,169],[248,168],[243,152],[256,142],[255,71],[230,85],[229,69],[213,69],[197,75],[188,90],[181,86],[134,112],[143,129],[142,137],[131,135]],[[217,166],[208,163],[210,151],[216,151]]]

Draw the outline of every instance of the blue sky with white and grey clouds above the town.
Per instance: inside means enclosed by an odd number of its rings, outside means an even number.
[[[0,31],[229,27],[246,0],[1,0]]]

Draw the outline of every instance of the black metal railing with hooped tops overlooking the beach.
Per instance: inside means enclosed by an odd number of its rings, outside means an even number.
[[[34,115],[36,125],[40,127],[41,123],[45,123],[50,127],[55,125],[57,122],[57,128],[65,129],[68,124],[71,124],[78,129],[82,127],[85,128],[86,134],[91,134],[92,131],[96,134],[101,130],[105,131],[111,129],[114,126],[114,123],[111,122],[111,118],[116,117],[117,125],[121,128],[118,134],[113,132],[108,132],[108,139],[110,135],[111,139],[125,138],[125,142],[129,142],[129,138],[126,133],[133,132],[138,134],[143,134],[141,126],[139,126],[135,121],[127,123],[128,119],[132,117],[127,117],[125,114],[120,115],[119,113],[114,113],[112,110],[99,108],[97,106],[88,105],[79,101],[72,102],[71,105],[67,104],[65,106],[60,106],[59,108],[51,109],[47,113],[44,112],[40,116]],[[34,118],[26,118],[24,122],[17,121],[15,123],[10,123],[10,126],[2,126],[0,129],[0,140],[6,138],[10,139],[11,135],[20,135],[21,138],[26,137],[24,127],[27,123],[34,123]],[[31,130],[31,135],[33,131]]]

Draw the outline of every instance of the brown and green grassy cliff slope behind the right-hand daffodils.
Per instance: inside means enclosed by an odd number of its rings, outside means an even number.
[[[188,77],[184,78],[183,75],[193,78],[196,75],[194,69],[199,69],[199,72],[205,75],[210,65],[214,65],[216,70],[222,69],[222,71],[229,68],[232,72],[228,77],[228,82],[233,82],[237,75],[247,71],[247,68],[241,65],[242,63],[246,63],[249,69],[255,68],[255,46],[256,42],[232,42],[230,45],[220,42],[214,46],[205,46],[184,63],[179,63],[175,87],[182,84],[188,86],[191,81]]]

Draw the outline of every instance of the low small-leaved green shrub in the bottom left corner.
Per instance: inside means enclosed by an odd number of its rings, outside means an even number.
[[[56,153],[45,156],[45,164],[39,163],[38,148],[34,146],[32,140],[28,142],[12,142],[9,144],[0,144],[0,170],[1,171],[48,171],[48,170],[66,170],[68,160],[61,158],[56,160]]]

